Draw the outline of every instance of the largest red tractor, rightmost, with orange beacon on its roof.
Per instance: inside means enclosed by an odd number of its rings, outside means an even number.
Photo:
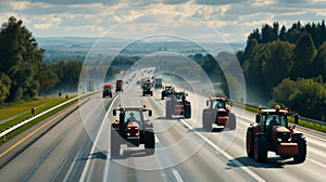
[[[277,105],[275,109],[261,109],[255,123],[247,129],[247,155],[256,161],[266,161],[268,151],[284,159],[293,157],[294,162],[303,162],[306,156],[306,141],[296,126],[289,126],[288,116],[292,115]],[[299,117],[294,115],[294,123]]]

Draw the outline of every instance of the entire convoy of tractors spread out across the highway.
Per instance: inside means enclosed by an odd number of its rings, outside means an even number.
[[[155,83],[158,86],[155,86]],[[123,80],[116,80],[115,92],[123,91]],[[177,91],[174,86],[165,84],[162,79],[154,81],[141,79],[141,95],[153,96],[153,88],[162,89],[161,99],[165,101],[166,119],[173,116],[191,118],[191,103],[187,100],[188,93]],[[112,84],[103,86],[103,98],[112,98]],[[165,100],[166,99],[166,100]],[[231,112],[233,101],[226,96],[216,96],[205,101],[206,107],[202,109],[202,128],[206,132],[214,130],[217,126],[224,131],[236,130],[237,119]],[[148,115],[146,115],[146,113]],[[113,109],[113,116],[117,119],[111,127],[111,155],[118,156],[121,145],[138,147],[143,144],[146,154],[152,155],[155,152],[155,132],[153,123],[147,116],[152,116],[152,110],[143,106],[118,106]],[[255,122],[250,123],[246,135],[246,150],[249,158],[254,158],[259,162],[265,162],[268,152],[274,152],[281,159],[293,158],[294,162],[303,162],[306,156],[306,141],[302,133],[294,130],[296,126],[289,123],[293,119],[298,123],[298,114],[292,114],[287,109],[281,109],[277,105],[274,109],[261,109],[255,116]]]

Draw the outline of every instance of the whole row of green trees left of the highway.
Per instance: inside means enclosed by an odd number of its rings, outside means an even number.
[[[0,103],[20,102],[55,90],[77,88],[82,63],[47,65],[46,50],[38,48],[23,21],[11,16],[0,29]]]

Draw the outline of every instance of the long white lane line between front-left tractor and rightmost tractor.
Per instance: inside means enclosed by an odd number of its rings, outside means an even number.
[[[193,129],[191,126],[189,126],[184,119],[179,119],[187,128],[190,130],[193,130],[195,133],[200,136],[204,142],[206,142],[211,147],[213,147],[215,151],[217,151],[220,154],[224,155],[227,159],[233,160],[235,165],[237,165],[239,168],[241,168],[243,171],[246,171],[248,174],[250,174],[252,178],[254,178],[256,181],[265,181],[260,176],[254,173],[252,170],[250,170],[248,167],[243,166],[239,160],[235,159],[235,157],[227,154],[225,151],[221,150],[217,145],[215,145],[212,141],[206,139],[204,135],[202,135],[200,132],[197,132],[196,129]]]

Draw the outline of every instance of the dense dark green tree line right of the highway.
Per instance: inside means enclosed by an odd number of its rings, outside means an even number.
[[[281,104],[306,117],[326,120],[325,22],[287,29],[263,25],[236,53],[250,102]]]

